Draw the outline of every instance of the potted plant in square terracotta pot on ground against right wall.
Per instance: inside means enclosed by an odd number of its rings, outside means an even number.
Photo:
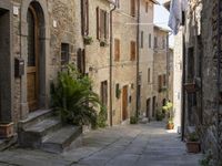
[[[195,132],[188,135],[186,149],[189,153],[199,153],[200,152],[199,136]]]

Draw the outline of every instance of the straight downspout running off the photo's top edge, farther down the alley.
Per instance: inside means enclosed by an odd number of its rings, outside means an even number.
[[[139,79],[140,79],[140,0],[138,1],[138,30],[137,30],[137,112],[135,116],[139,117],[140,107],[140,92],[139,92]]]

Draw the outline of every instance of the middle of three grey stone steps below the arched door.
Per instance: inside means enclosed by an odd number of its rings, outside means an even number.
[[[61,128],[61,123],[56,117],[46,118],[19,133],[19,144],[22,147],[40,148],[42,138]]]

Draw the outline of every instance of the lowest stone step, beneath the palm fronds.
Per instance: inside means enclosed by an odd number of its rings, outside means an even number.
[[[80,138],[81,134],[82,127],[80,126],[63,126],[58,132],[47,135],[41,148],[50,153],[62,153],[74,139]]]

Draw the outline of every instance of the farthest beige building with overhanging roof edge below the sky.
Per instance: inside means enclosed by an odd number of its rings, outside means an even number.
[[[168,38],[169,30],[154,25],[153,39],[153,113],[162,110],[168,100]]]

